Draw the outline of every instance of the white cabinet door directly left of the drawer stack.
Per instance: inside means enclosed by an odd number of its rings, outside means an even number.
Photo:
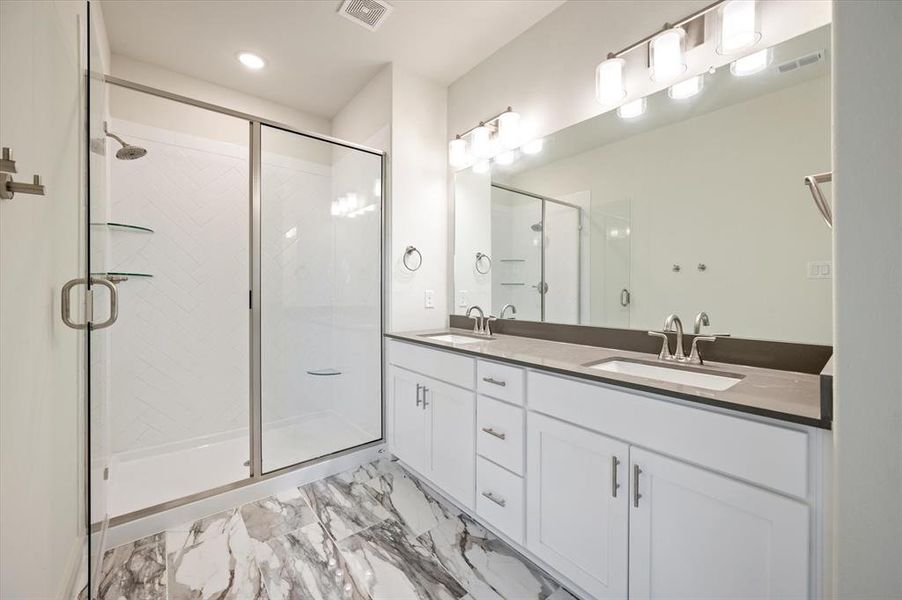
[[[476,486],[476,394],[424,379],[432,432],[432,480],[473,508]]]

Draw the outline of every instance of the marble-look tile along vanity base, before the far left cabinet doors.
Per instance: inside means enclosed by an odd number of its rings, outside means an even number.
[[[391,514],[391,518],[403,523],[414,536],[429,531],[440,520],[460,513],[432,495],[416,477],[397,466],[397,463],[392,464],[396,466],[381,471],[378,477],[365,485],[379,504]]]

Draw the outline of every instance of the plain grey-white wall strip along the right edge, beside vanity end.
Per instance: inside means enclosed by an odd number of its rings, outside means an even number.
[[[835,597],[902,597],[902,3],[834,12]]]

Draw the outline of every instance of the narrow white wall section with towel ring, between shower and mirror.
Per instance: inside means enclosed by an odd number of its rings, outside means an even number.
[[[391,313],[389,330],[442,327],[448,321],[446,88],[392,70]],[[423,266],[401,264],[407,246],[423,254]],[[434,307],[424,306],[431,290]]]

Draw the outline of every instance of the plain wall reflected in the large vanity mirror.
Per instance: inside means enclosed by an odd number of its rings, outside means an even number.
[[[556,198],[591,190],[596,265],[605,264],[607,207],[631,205],[631,327],[704,310],[721,333],[829,345],[831,281],[808,279],[806,264],[831,259],[831,235],[801,185],[829,164],[821,77],[529,170],[512,185]],[[551,281],[547,258],[546,272]],[[605,289],[604,276],[599,266],[586,283],[592,323],[611,326],[620,317],[609,320],[605,307],[619,307],[621,288]]]

